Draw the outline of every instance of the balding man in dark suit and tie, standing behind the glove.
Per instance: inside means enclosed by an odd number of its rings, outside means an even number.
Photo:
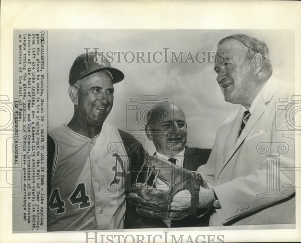
[[[166,159],[190,171],[196,171],[201,165],[206,164],[211,149],[200,149],[189,146],[187,143],[187,124],[185,114],[180,107],[170,103],[160,103],[147,113],[147,125],[145,132],[147,138],[154,142],[156,152],[154,155]],[[160,112],[162,111],[162,112]],[[148,181],[152,182],[150,178]],[[167,185],[157,178],[157,188],[167,190]],[[165,227],[201,227],[208,226],[209,214],[206,210],[196,212],[196,216],[182,220],[161,220],[149,217],[137,216],[134,228],[165,228]]]

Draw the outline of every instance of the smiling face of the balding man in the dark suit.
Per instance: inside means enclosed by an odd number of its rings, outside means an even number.
[[[152,123],[159,124],[161,130],[147,129],[147,137],[154,142],[157,152],[170,156],[182,151],[187,141],[187,125],[185,114],[181,108],[174,105],[174,111],[168,112],[164,107],[164,117],[159,121],[160,115],[154,113]]]

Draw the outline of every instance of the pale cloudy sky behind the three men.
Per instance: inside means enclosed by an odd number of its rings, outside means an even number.
[[[186,59],[189,52],[194,56],[198,51],[216,51],[219,40],[234,33],[264,40],[270,51],[273,75],[294,82],[295,37],[291,30],[48,30],[48,131],[68,123],[73,116],[73,103],[68,96],[69,71],[76,56],[85,53],[84,48],[99,48],[105,53],[154,53],[169,48],[168,60],[171,51],[177,55],[183,51]],[[222,121],[240,107],[224,101],[213,71],[214,63],[136,63],[137,58],[127,63],[123,56],[116,63],[117,55],[114,58],[111,66],[121,70],[125,79],[114,85],[114,105],[106,122],[124,131],[129,127],[127,123],[136,124],[133,112],[126,115],[130,98],[140,101],[143,95],[157,95],[160,100],[168,98],[182,107],[189,142],[195,147],[212,148]],[[159,56],[157,59],[160,60]],[[138,137],[150,153],[154,152],[143,130],[128,132]]]

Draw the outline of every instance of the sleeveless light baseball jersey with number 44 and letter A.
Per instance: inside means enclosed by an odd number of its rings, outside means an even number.
[[[94,138],[65,124],[55,144],[48,193],[48,231],[122,229],[129,160],[119,131],[104,123]]]

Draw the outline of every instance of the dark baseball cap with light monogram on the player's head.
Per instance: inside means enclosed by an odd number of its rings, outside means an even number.
[[[70,69],[69,84],[73,86],[76,81],[102,70],[112,75],[113,84],[124,79],[124,74],[116,68],[111,68],[106,56],[100,52],[86,52],[76,57]]]

